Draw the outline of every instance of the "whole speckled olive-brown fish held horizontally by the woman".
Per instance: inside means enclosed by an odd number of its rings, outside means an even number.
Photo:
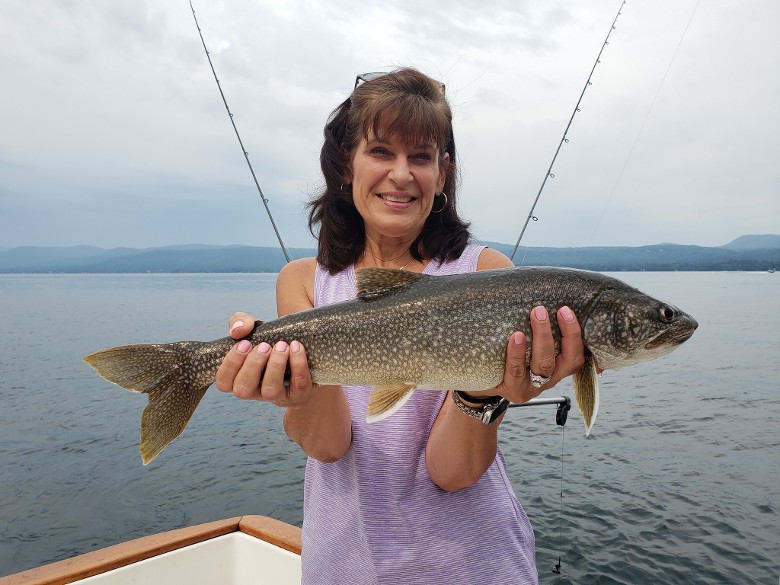
[[[587,270],[512,267],[431,276],[404,270],[356,271],[353,300],[257,321],[253,345],[298,340],[312,381],[372,387],[367,420],[391,416],[418,390],[487,392],[504,376],[510,335],[533,339],[529,316],[564,305],[577,316],[585,346],[573,374],[574,396],[590,434],[599,406],[597,372],[668,354],[693,335],[696,320],[674,305]],[[556,354],[561,332],[550,319]],[[214,341],[124,345],[84,360],[97,373],[147,394],[140,453],[151,462],[187,426],[216,371],[236,343]]]

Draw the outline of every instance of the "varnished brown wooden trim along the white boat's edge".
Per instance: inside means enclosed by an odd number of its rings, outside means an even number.
[[[0,577],[0,585],[65,585],[232,532],[243,532],[301,554],[301,529],[297,526],[267,516],[238,516],[144,536]]]

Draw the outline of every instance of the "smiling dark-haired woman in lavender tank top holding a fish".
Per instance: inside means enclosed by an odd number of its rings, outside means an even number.
[[[320,160],[326,186],[309,204],[318,255],[279,273],[279,316],[354,298],[358,268],[440,275],[512,265],[468,243],[442,84],[413,69],[358,77],[326,125]],[[525,402],[582,364],[571,310],[557,315],[557,358],[549,319],[543,307],[532,311],[531,372],[525,337],[515,333],[504,379],[487,394]],[[244,337],[253,321],[237,313],[231,335]],[[533,530],[497,447],[505,401],[416,392],[393,416],[367,424],[367,388],[313,386],[296,341],[240,341],[217,373],[220,390],[285,408],[285,431],[309,457],[304,583],[537,582]],[[486,408],[490,424],[477,418]]]

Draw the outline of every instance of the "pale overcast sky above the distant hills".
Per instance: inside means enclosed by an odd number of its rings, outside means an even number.
[[[193,0],[287,247],[357,73],[446,85],[476,238],[780,234],[777,0]],[[274,246],[185,0],[3,0],[0,248]]]

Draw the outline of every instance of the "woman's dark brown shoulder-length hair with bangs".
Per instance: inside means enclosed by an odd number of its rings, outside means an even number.
[[[409,252],[439,262],[454,260],[469,241],[469,224],[457,213],[458,166],[452,111],[443,86],[415,69],[398,69],[366,81],[337,107],[325,125],[320,166],[325,189],[308,203],[309,231],[318,239],[317,261],[335,274],[357,262],[365,248],[365,225],[352,201],[352,188],[344,185],[349,162],[361,138],[370,134],[400,137],[407,145],[432,143],[439,149],[439,164],[446,168],[446,200],[437,197],[422,232]],[[449,162],[445,161],[449,154]],[[319,226],[319,235],[315,228]]]

